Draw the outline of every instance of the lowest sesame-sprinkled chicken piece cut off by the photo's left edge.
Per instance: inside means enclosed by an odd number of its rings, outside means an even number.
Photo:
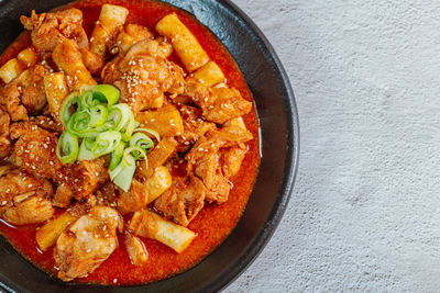
[[[0,178],[0,217],[13,225],[42,223],[54,215],[51,182],[14,170]]]

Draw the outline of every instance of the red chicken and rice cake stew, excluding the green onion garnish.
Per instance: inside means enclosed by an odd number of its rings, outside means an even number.
[[[255,180],[258,124],[233,59],[193,16],[105,3],[23,16],[29,31],[1,56],[0,229],[62,280],[145,283],[194,266],[233,228]],[[109,179],[111,155],[55,155],[63,102],[97,83],[160,135],[128,191]]]

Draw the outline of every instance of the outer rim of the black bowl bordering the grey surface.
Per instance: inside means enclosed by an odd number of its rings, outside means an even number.
[[[204,291],[208,292],[218,292],[222,289],[226,289],[230,283],[237,280],[255,261],[267,243],[271,240],[292,198],[296,176],[298,172],[300,150],[298,108],[296,104],[294,90],[292,88],[288,75],[284,69],[274,47],[264,33],[258,29],[258,26],[251,20],[251,18],[248,16],[248,14],[245,14],[235,3],[233,3],[231,0],[217,1],[230,12],[237,14],[244,22],[244,25],[250,29],[250,31],[255,33],[255,36],[253,37],[254,41],[261,45],[264,56],[266,58],[272,58],[270,63],[275,65],[274,69],[279,74],[280,82],[278,81],[278,83],[284,86],[284,90],[286,91],[285,102],[289,104],[289,108],[286,109],[286,129],[288,131],[286,135],[287,157],[282,182],[282,185],[284,185],[285,189],[278,193],[276,202],[274,203],[264,226],[261,228],[260,233],[256,235],[250,246],[244,250],[243,255],[237,259],[231,267],[227,268],[220,275],[215,278],[207,286],[202,289]]]

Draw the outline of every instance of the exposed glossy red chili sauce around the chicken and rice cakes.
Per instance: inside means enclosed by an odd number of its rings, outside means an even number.
[[[165,15],[175,12],[180,21],[197,37],[209,57],[216,61],[227,77],[227,83],[240,90],[244,99],[252,101],[251,92],[235,61],[220,41],[193,15],[175,7],[152,0],[85,0],[68,4],[80,9],[84,13],[84,27],[90,37],[95,22],[98,20],[101,5],[112,3],[129,9],[127,23],[145,25],[154,31],[155,24]],[[31,44],[30,34],[23,33],[0,56],[0,66]],[[172,60],[179,63],[176,56]],[[169,278],[198,263],[210,253],[232,230],[248,203],[254,185],[260,165],[258,121],[255,109],[243,116],[254,139],[249,142],[249,151],[239,173],[231,179],[233,188],[228,202],[206,205],[188,228],[197,233],[196,239],[182,253],[153,240],[143,239],[148,251],[147,263],[133,266],[125,250],[123,236],[119,235],[119,247],[97,270],[87,278],[76,279],[81,283],[101,284],[140,284]],[[59,212],[59,211],[58,211]],[[131,214],[124,217],[129,222]],[[44,224],[44,223],[43,223]],[[42,251],[35,240],[35,229],[43,224],[13,227],[0,222],[0,233],[30,261],[51,274],[56,274],[57,268],[53,258],[53,247]],[[232,248],[231,248],[232,249]]]

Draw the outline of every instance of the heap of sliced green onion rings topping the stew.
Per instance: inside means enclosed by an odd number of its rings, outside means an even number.
[[[157,132],[136,128],[128,104],[119,103],[120,92],[109,84],[89,88],[82,94],[70,93],[63,102],[61,117],[66,131],[59,137],[56,155],[63,164],[94,160],[111,156],[110,179],[128,191],[136,169],[136,160],[146,161]]]

